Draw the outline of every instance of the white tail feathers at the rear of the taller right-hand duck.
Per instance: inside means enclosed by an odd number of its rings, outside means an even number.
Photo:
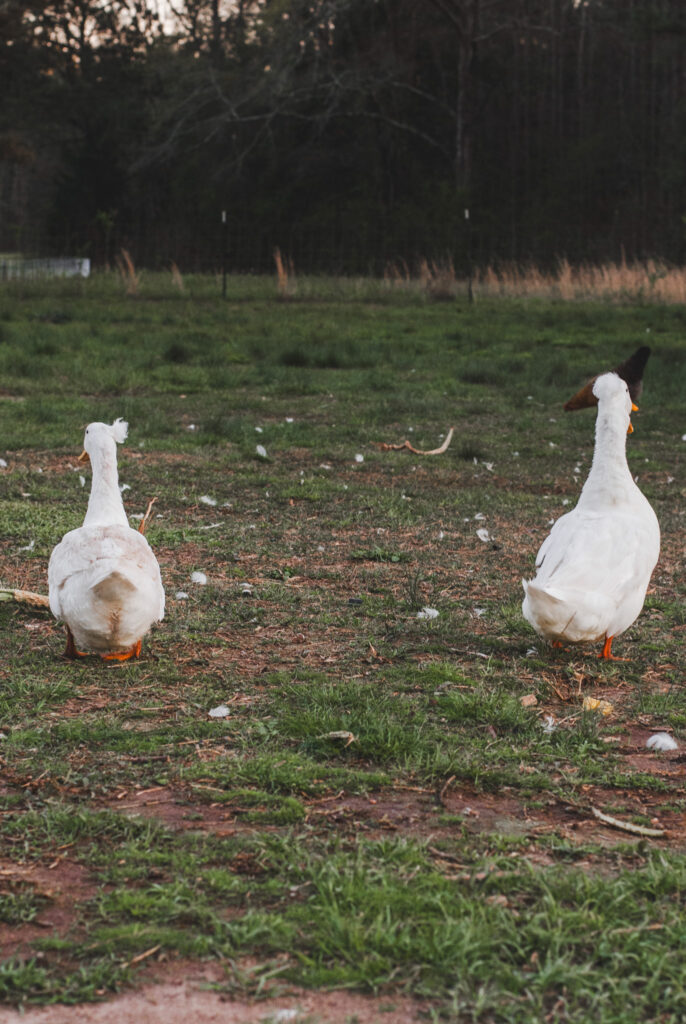
[[[601,594],[555,587],[540,587],[522,580],[522,613],[541,636],[548,640],[595,641],[605,636],[605,626],[612,604]]]

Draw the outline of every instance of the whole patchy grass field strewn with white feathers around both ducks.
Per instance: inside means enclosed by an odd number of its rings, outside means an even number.
[[[63,662],[46,612],[0,603],[0,916],[37,933],[5,944],[0,998],[100,998],[159,946],[220,962],[229,992],[682,1020],[683,771],[631,737],[686,737],[683,310],[185,285],[0,289],[0,582],[45,592],[85,511],[84,425],[123,416],[124,500],[158,499],[167,592],[121,666]],[[562,401],[646,339],[629,459],[662,556],[630,660],[602,664],[535,637],[520,580],[590,466],[593,414]],[[439,457],[381,447],[451,426]],[[591,805],[670,834],[611,833]],[[25,869],[55,860],[87,891],[50,931],[57,897]]]

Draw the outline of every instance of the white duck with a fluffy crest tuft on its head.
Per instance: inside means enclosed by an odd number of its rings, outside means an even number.
[[[48,565],[50,610],[67,627],[66,656],[137,657],[141,639],[164,617],[160,566],[140,530],[129,526],[119,490],[117,442],[128,424],[86,427],[81,461],[93,479],[83,526],[66,534]]]

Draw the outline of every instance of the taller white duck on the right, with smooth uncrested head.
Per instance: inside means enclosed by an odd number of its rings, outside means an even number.
[[[561,516],[539,551],[534,580],[522,580],[524,617],[547,640],[604,640],[638,617],[659,555],[659,526],[627,465],[636,409],[615,373],[593,384],[598,400],[593,464],[576,507]]]

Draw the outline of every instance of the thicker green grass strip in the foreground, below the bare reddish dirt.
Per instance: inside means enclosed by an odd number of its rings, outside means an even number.
[[[106,855],[80,851],[106,888],[78,908],[86,938],[71,949],[42,943],[47,967],[5,965],[8,996],[24,986],[40,998],[53,985],[68,1000],[87,997],[160,944],[224,958],[229,973],[233,957],[252,953],[265,973],[278,956],[282,978],[312,986],[399,984],[477,1018],[531,1020],[562,987],[571,1019],[683,1013],[683,858],[625,851],[608,878],[564,862],[534,868],[521,843],[488,852],[459,835],[441,859],[404,839],[216,840],[103,814],[81,812],[75,825],[54,809],[47,827],[41,818],[25,821],[39,843],[54,825],[59,838],[109,844]],[[82,962],[78,986],[51,975],[52,957],[63,969],[70,955]]]

